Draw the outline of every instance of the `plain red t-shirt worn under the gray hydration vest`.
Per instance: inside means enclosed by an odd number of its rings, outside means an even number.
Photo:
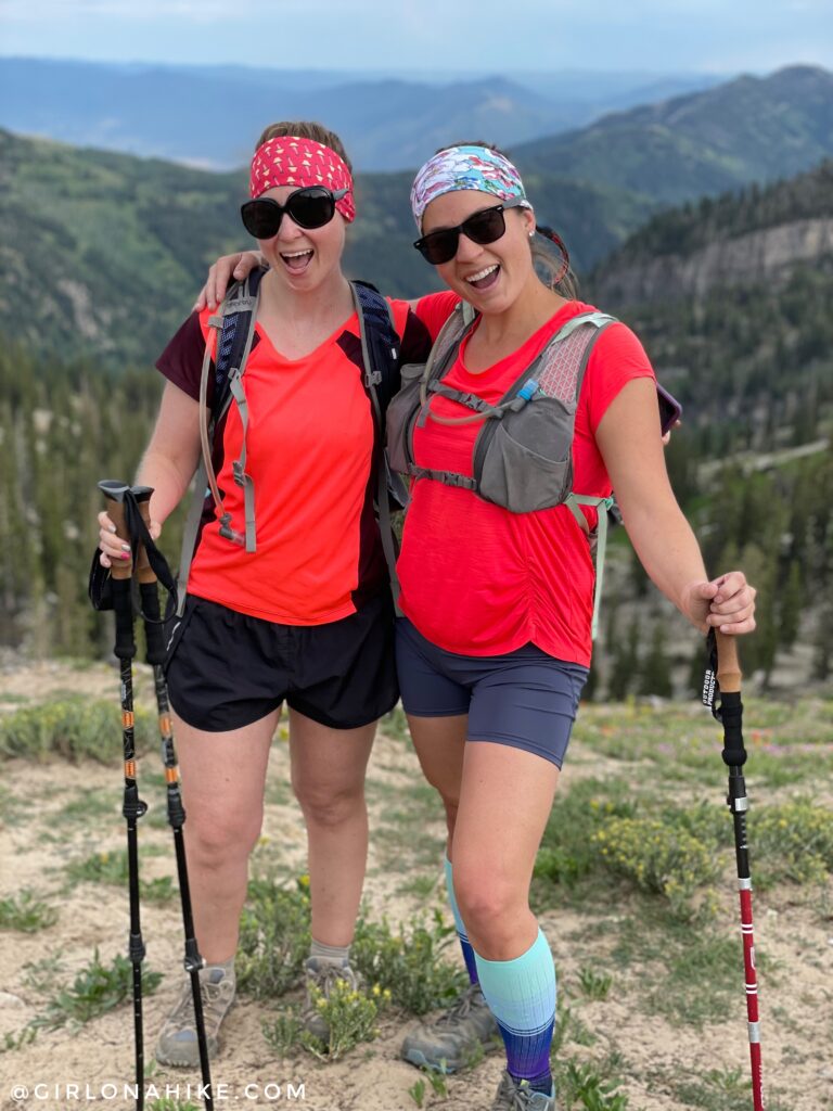
[[[418,306],[432,337],[452,311],[454,293]],[[592,306],[570,301],[524,346],[482,373],[465,369],[463,342],[443,381],[496,403],[549,339]],[[611,482],[594,433],[608,406],[634,378],[653,378],[642,344],[622,323],[594,344],[579,394],[573,440],[573,490],[608,497]],[[460,417],[456,401],[434,397],[438,416]],[[481,426],[428,420],[414,431],[418,467],[471,476]],[[591,528],[595,510],[584,510]],[[496,655],[532,642],[549,655],[588,665],[594,571],[588,538],[566,506],[511,513],[470,490],[432,479],[413,483],[398,572],[400,607],[428,640],[464,655]]]

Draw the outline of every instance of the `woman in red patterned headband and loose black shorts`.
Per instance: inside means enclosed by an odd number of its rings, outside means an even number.
[[[230,542],[214,513],[203,516],[167,663],[212,1054],[234,999],[248,860],[260,835],[282,702],[292,785],[309,837],[307,977],[328,993],[338,980],[354,985],[349,947],[367,858],[364,773],[377,720],[399,698],[370,481],[374,427],[358,318],[341,270],[355,209],[338,136],[315,123],[268,128],[252,158],[250,196],[243,222],[270,268],[244,378],[257,549]],[[391,310],[403,359],[424,358],[424,327],[405,302],[391,302]],[[200,377],[215,334],[210,316],[192,313],[158,362],[168,381],[138,474],[154,489],[154,536],[185,493],[200,454]],[[232,406],[214,437],[214,469],[223,510],[240,531],[248,514],[232,461],[243,436]],[[110,519],[102,514],[100,523],[101,562],[127,558]],[[309,1000],[305,1024],[327,1040]],[[187,980],[157,1058],[198,1063]]]

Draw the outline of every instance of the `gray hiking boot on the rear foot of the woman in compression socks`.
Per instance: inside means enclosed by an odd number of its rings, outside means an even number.
[[[489,1051],[500,1035],[480,984],[472,983],[444,1014],[423,1023],[402,1042],[402,1057],[411,1064],[438,1072],[456,1072]]]

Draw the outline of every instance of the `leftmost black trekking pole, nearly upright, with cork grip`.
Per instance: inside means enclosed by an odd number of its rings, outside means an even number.
[[[99,482],[110,504],[108,513],[120,540],[130,542],[127,527],[124,496],[130,487],[123,482]],[[124,750],[124,802],[122,813],[128,825],[128,877],[130,889],[130,941],[128,953],[133,967],[133,1037],[136,1040],[137,1111],[144,1108],[144,1039],[142,1033],[142,961],[144,942],[139,914],[139,841],[137,822],[148,807],[139,798],[136,782],[136,738],[133,732],[133,667],[136,640],[133,638],[132,557],[113,560],[111,567],[113,610],[116,611],[116,647],[113,651],[121,665],[121,724]]]

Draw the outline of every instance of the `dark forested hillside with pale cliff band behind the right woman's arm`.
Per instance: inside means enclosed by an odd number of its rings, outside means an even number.
[[[588,296],[634,327],[683,403],[669,451],[674,489],[706,565],[742,565],[760,588],[744,665],[764,681],[776,653],[799,641],[812,649],[805,679],[833,669],[831,184],[827,162],[769,189],[663,213],[588,280]],[[769,237],[769,251],[755,237]],[[727,257],[739,264],[722,264]],[[644,589],[635,568],[634,583]],[[629,638],[650,653],[659,627],[618,630],[614,685],[628,680]]]

